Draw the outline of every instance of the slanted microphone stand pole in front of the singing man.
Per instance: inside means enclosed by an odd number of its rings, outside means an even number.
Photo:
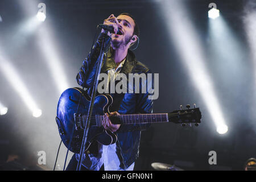
[[[86,119],[86,123],[83,123],[83,125],[85,126],[84,136],[82,138],[82,145],[81,145],[81,150],[80,150],[79,162],[77,163],[76,171],[81,170],[82,156],[84,156],[84,152],[85,152],[85,144],[87,142],[88,131],[89,131],[89,127],[90,127],[90,118],[92,117],[93,104],[94,104],[94,100],[95,100],[95,96],[96,96],[96,92],[97,92],[98,77],[100,76],[100,72],[101,72],[101,65],[102,65],[102,62],[103,62],[104,52],[106,51],[106,48],[108,47],[108,46],[105,46],[105,48],[104,48],[104,44],[105,44],[105,39],[102,40],[102,44],[101,44],[101,52],[100,52],[100,56],[99,56],[100,60],[98,61],[96,76],[94,78],[92,98],[90,100],[88,117]]]

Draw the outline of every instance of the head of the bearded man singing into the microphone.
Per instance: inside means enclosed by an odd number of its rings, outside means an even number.
[[[129,13],[121,13],[117,16],[118,28],[121,35],[112,34],[112,47],[129,48],[139,37],[139,27],[134,17]]]

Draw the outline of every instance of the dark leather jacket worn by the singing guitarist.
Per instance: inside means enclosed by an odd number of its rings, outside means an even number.
[[[98,36],[96,43],[93,46],[92,51],[88,57],[84,60],[76,80],[79,85],[88,88],[88,92],[91,95],[91,90],[94,82],[94,77],[97,69],[98,57],[100,55],[100,49],[102,40],[105,39],[105,47],[109,45],[110,37],[105,33],[101,33]],[[111,56],[110,48],[104,56],[104,64],[102,65],[101,72],[107,73],[109,69],[115,68],[116,64]],[[134,53],[128,51],[125,63],[121,69],[121,73],[150,73],[144,64],[135,59]],[[147,86],[147,83],[140,82],[140,88]],[[114,97],[115,99],[115,97]],[[135,113],[152,113],[153,101],[148,99],[148,92],[146,93],[125,93],[123,100],[119,106],[118,113],[120,114],[135,114]],[[141,131],[146,130],[150,124],[133,124],[133,125],[121,125],[116,132],[118,142],[117,151],[119,156],[121,155],[121,167],[129,167],[138,158],[139,154],[139,142],[141,139]]]

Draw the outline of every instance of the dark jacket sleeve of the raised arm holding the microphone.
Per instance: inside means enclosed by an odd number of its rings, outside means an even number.
[[[79,69],[79,73],[77,73],[76,80],[79,85],[88,89],[92,88],[97,70],[97,63],[100,61],[98,57],[100,56],[103,40],[105,40],[103,46],[106,48],[109,45],[110,39],[110,36],[104,32],[98,36],[96,43],[93,45],[92,51],[83,61],[82,67]]]

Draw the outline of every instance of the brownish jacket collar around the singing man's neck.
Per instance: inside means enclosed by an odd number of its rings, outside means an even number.
[[[128,75],[128,73],[131,73],[136,63],[135,55],[130,49],[128,49],[127,56],[125,59],[126,60],[121,69],[121,73]],[[104,61],[104,64],[102,65],[101,72],[105,73],[109,69],[112,69],[115,67],[116,67],[116,64],[114,59],[112,58],[112,51],[111,51],[111,48],[109,48],[107,54],[105,55],[105,61]]]

